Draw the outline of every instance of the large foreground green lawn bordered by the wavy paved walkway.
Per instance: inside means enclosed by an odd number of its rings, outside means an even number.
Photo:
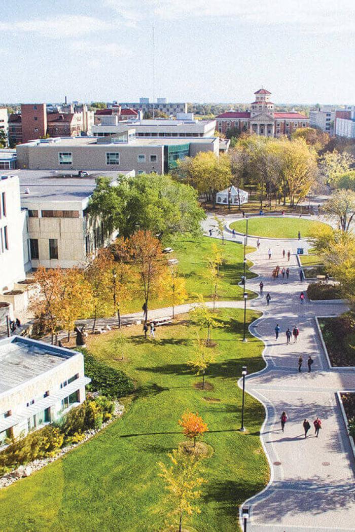
[[[248,311],[247,319],[257,313]],[[184,317],[181,317],[183,319]],[[203,460],[208,484],[200,501],[202,513],[188,523],[199,532],[234,532],[238,504],[260,491],[269,478],[259,430],[263,407],[246,395],[246,433],[240,433],[242,366],[261,369],[262,342],[241,342],[243,311],[219,313],[212,332],[216,357],[207,372],[213,390],[194,388],[200,377],[189,372],[196,330],[186,321],[158,328],[155,340],[144,340],[140,327],[129,335],[126,359],[115,360],[110,348],[117,332],[92,337],[88,348],[97,358],[133,377],[137,393],[125,400],[126,413],[101,434],[28,479],[0,491],[0,530],[51,532],[157,532],[164,529],[168,507],[157,462],[184,440],[177,424],[187,409],[199,411],[213,447]],[[213,398],[213,401],[211,401]],[[210,401],[208,400],[210,399]]]

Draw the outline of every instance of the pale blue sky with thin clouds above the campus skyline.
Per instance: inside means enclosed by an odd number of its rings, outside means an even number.
[[[355,104],[354,0],[0,0],[0,102]],[[152,27],[155,34],[153,89]]]

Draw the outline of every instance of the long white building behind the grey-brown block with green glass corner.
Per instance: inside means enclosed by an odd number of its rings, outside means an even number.
[[[125,120],[115,115],[101,117],[92,128],[94,137],[108,137],[135,129],[136,138],[214,137],[216,120],[195,120],[193,113],[179,113],[176,120]]]

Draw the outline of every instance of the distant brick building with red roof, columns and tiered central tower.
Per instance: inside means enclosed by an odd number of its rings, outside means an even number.
[[[217,129],[226,134],[230,129],[238,129],[266,137],[291,136],[298,128],[308,127],[308,117],[295,111],[278,113],[270,102],[270,92],[259,89],[254,93],[255,101],[251,110],[245,112],[227,111],[216,117]]]

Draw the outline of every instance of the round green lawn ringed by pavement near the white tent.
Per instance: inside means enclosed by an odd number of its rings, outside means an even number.
[[[271,238],[298,238],[308,237],[310,230],[315,227],[324,227],[326,224],[304,218],[283,218],[283,217],[258,217],[248,218],[248,233],[253,236],[263,236]],[[245,233],[246,220],[238,220],[230,224],[232,229]]]

